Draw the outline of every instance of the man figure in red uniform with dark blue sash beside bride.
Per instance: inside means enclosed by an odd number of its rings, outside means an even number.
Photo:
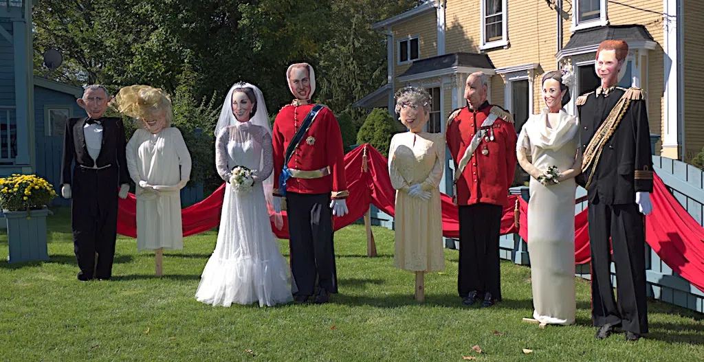
[[[337,293],[332,216],[348,213],[342,135],[332,111],[310,101],[313,67],[293,64],[286,75],[296,99],[279,111],[272,130],[274,207],[279,212],[286,198],[294,299],[307,302],[315,292],[322,304]]]

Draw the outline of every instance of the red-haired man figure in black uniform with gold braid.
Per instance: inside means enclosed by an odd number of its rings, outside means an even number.
[[[595,63],[601,86],[577,98],[584,155],[577,183],[589,197],[591,318],[599,340],[617,327],[627,341],[648,332],[643,215],[653,209],[653,161],[643,91],[617,86],[627,56],[625,41],[603,41]],[[611,285],[609,238],[618,302]]]

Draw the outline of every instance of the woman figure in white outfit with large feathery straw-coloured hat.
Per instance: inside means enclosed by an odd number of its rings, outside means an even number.
[[[127,143],[127,169],[137,184],[137,251],[156,250],[159,275],[161,252],[183,248],[180,190],[190,179],[191,155],[171,127],[171,101],[161,89],[126,86],[112,105],[139,122]]]

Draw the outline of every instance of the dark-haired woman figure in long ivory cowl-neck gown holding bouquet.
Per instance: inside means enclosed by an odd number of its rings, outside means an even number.
[[[562,72],[547,72],[542,84],[547,108],[528,118],[516,146],[519,164],[531,175],[527,243],[533,318],[541,324],[570,325],[576,309],[574,176],[581,172],[582,164],[577,144],[578,121],[562,108],[570,99]],[[545,177],[553,166],[557,167],[558,177]]]

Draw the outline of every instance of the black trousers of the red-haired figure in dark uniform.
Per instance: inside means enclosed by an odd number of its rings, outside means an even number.
[[[618,302],[611,285],[609,237]],[[601,327],[608,323],[634,333],[647,333],[646,233],[638,205],[589,202],[589,239],[593,324]]]

